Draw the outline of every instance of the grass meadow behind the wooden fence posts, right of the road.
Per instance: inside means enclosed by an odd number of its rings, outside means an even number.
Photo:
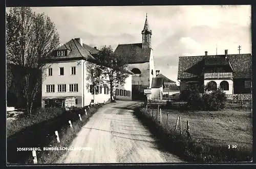
[[[148,112],[148,110],[147,110]],[[154,118],[160,113],[154,109]],[[152,114],[152,109],[151,112]],[[167,123],[168,114],[168,123]],[[189,120],[191,137],[210,145],[236,145],[237,149],[252,149],[252,113],[250,110],[178,111],[162,110],[162,124],[175,129],[177,117],[181,117],[182,131]],[[179,130],[179,128],[178,128]]]

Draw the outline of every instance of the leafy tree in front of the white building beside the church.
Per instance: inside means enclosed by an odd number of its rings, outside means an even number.
[[[125,57],[115,55],[111,46],[103,46],[96,56],[96,62],[95,81],[110,86],[110,99],[111,102],[114,102],[114,85],[117,83],[123,84],[125,79],[129,76],[126,70],[127,62]],[[108,79],[102,79],[102,77],[98,75],[106,75]]]

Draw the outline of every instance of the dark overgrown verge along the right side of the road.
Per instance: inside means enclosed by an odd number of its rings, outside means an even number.
[[[251,161],[252,150],[238,147],[228,149],[223,145],[203,144],[195,139],[188,139],[186,135],[168,129],[165,125],[144,109],[136,109],[135,115],[147,126],[150,131],[160,140],[167,151],[173,153],[187,162],[234,162]],[[192,136],[193,137],[193,136]]]

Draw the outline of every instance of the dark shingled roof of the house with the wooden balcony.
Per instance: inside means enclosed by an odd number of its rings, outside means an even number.
[[[233,69],[233,78],[251,78],[251,54],[228,55],[228,64],[226,60],[220,59],[221,57],[225,59],[224,55],[179,57],[178,79],[198,78],[203,75],[205,63],[207,65],[220,65],[214,61],[224,65],[230,64]]]

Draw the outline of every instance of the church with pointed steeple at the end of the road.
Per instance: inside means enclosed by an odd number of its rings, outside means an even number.
[[[114,52],[126,59],[127,68],[134,73],[132,76],[133,100],[143,99],[144,89],[151,88],[152,79],[156,77],[151,46],[152,31],[148,25],[147,17],[141,34],[142,43],[119,44]]]

